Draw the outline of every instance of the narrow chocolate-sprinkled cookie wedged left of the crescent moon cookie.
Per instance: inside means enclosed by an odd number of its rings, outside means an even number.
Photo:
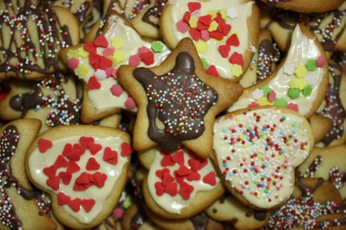
[[[262,30],[256,53],[239,84],[243,87],[249,87],[264,80],[274,72],[280,59],[280,50],[277,48],[277,44],[273,42],[270,31]]]

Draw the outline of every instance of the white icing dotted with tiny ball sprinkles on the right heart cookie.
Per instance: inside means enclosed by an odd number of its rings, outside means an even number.
[[[256,122],[256,117],[253,115],[256,113],[256,116],[261,116],[260,122]],[[280,119],[285,116],[286,120],[281,122]],[[295,126],[293,123],[295,122]],[[310,148],[312,147],[310,143],[306,145],[306,149],[301,150],[302,142],[309,142],[308,133],[306,130],[303,130],[303,118],[283,113],[281,111],[271,109],[257,109],[255,111],[247,112],[247,115],[240,114],[234,116],[232,119],[222,119],[215,123],[214,125],[214,138],[213,138],[213,149],[215,150],[217,162],[220,167],[221,172],[226,171],[226,167],[229,168],[225,178],[228,180],[233,188],[243,191],[243,197],[255,205],[256,207],[269,209],[278,205],[288,199],[293,192],[294,184],[291,184],[292,175],[294,173],[295,167],[301,164],[306,157],[308,157]],[[239,124],[242,124],[243,127],[239,127]],[[264,125],[273,125],[276,124],[276,128],[273,131],[273,134],[270,135],[270,129],[266,131],[263,130]],[[249,127],[246,127],[246,126]],[[250,142],[247,138],[250,131],[254,131],[254,126],[258,126],[258,132],[260,133],[260,138],[255,137],[254,142]],[[235,129],[236,132],[231,132],[231,129]],[[281,133],[283,132],[283,133]],[[261,136],[261,133],[264,135]],[[289,136],[292,135],[290,140],[290,145],[284,143],[283,135]],[[227,140],[224,138],[227,137]],[[242,139],[241,141],[231,144],[230,139],[237,138]],[[271,147],[267,145],[266,138],[271,138],[271,141],[275,144],[278,144],[279,148],[282,148],[282,154],[280,155],[279,151],[275,150],[275,146]],[[298,141],[295,143],[294,139]],[[242,141],[245,141],[245,145]],[[268,147],[268,150],[265,150],[265,147]],[[232,150],[235,150],[233,153]],[[251,158],[251,155],[257,153],[257,157]],[[275,154],[272,157],[272,154]],[[227,160],[227,157],[230,156],[230,160]],[[265,157],[265,160],[263,160]],[[244,161],[244,159],[246,159]],[[226,160],[227,165],[224,165],[223,160]],[[254,165],[251,165],[251,162],[254,162]],[[240,166],[240,163],[243,163],[243,166]],[[267,166],[262,169],[262,165],[267,164]],[[284,169],[283,166],[287,166],[287,169]],[[281,169],[278,172],[275,172],[278,166],[281,166]],[[259,172],[257,175],[254,175],[254,169],[251,170],[251,167],[257,167]],[[233,170],[236,169],[236,174],[233,173]],[[248,170],[244,172],[244,169]],[[233,173],[233,175],[232,175]],[[283,179],[275,179],[273,175],[275,173],[278,176],[283,176]],[[231,175],[230,175],[231,174]],[[266,175],[265,175],[266,174]],[[261,183],[261,177],[265,178],[263,181],[264,188],[258,188],[257,183]],[[266,177],[267,176],[267,177]],[[269,196],[267,197],[265,193],[265,186],[268,182],[266,178],[271,177]],[[276,185],[273,185],[275,181]],[[249,184],[246,185],[245,182],[248,181]],[[282,187],[280,190],[277,190],[276,186]],[[242,186],[245,186],[244,188]],[[250,189],[247,187],[249,186]],[[251,192],[257,192],[259,198],[257,198]],[[278,198],[275,198],[275,195],[279,195]],[[271,202],[268,202],[268,199],[271,199]]]

